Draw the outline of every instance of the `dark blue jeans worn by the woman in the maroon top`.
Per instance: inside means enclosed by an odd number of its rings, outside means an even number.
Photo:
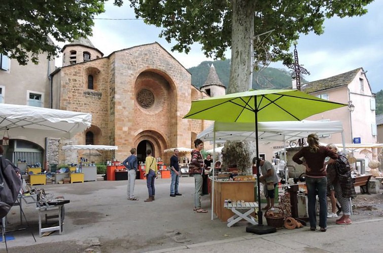
[[[327,178],[309,178],[306,177],[307,198],[308,198],[308,219],[310,227],[317,227],[317,191],[319,197],[319,226],[321,228],[327,227]]]

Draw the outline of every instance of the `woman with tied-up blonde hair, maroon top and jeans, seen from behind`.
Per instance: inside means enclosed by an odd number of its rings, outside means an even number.
[[[319,197],[319,226],[322,232],[327,230],[327,174],[325,158],[330,161],[338,158],[338,155],[325,146],[319,144],[316,134],[307,136],[307,147],[303,147],[294,156],[293,161],[306,167],[306,186],[308,198],[308,218],[310,230],[317,229],[316,195]],[[301,158],[304,158],[304,161]]]

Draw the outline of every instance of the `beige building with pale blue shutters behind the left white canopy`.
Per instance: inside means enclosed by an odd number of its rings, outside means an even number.
[[[22,66],[17,60],[1,55],[0,103],[50,108],[52,101],[49,74],[55,69],[55,61],[48,60],[47,57],[46,53],[40,54],[39,64],[28,62]],[[9,144],[6,147],[6,155],[14,162],[21,159],[34,164],[43,163],[45,160],[45,138],[20,137],[10,140]]]

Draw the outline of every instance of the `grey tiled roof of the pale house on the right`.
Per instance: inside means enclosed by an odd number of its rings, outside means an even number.
[[[305,93],[312,93],[331,88],[347,86],[361,69],[362,68],[357,68],[343,74],[331,76],[329,78],[304,83],[301,87],[301,90]]]

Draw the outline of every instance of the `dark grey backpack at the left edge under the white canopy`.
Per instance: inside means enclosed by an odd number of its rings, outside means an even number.
[[[19,169],[4,156],[0,156],[0,219],[7,216],[17,200],[21,188]]]

